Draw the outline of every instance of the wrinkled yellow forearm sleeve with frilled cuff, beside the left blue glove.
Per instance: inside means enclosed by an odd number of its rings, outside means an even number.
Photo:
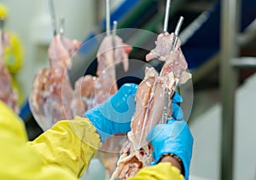
[[[58,165],[81,177],[102,146],[96,128],[87,118],[61,120],[33,142],[45,165]]]

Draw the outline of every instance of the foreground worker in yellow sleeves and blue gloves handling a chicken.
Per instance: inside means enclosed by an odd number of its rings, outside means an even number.
[[[137,84],[124,84],[106,102],[85,113],[89,119],[59,121],[33,142],[27,142],[20,119],[0,102],[1,179],[78,179],[108,136],[130,131],[136,91]],[[180,96],[173,97],[173,104],[180,101]],[[131,179],[188,179],[193,137],[181,109],[173,107],[173,119],[155,126],[148,135],[154,147],[153,166]],[[113,119],[102,112],[112,112]],[[123,118],[115,119],[119,112],[125,112]]]

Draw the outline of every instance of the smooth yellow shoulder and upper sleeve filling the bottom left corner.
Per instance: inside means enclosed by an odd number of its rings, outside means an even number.
[[[58,165],[44,165],[38,152],[26,142],[21,119],[0,101],[0,179],[79,179]]]

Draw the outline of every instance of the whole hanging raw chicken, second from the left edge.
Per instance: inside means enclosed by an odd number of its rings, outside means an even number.
[[[56,35],[48,49],[49,68],[34,78],[29,102],[34,118],[44,131],[61,119],[73,119],[70,106],[73,88],[67,68],[71,67],[72,55],[80,44]]]

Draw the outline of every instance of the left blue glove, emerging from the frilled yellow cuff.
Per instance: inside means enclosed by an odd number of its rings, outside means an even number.
[[[106,102],[84,113],[84,117],[96,127],[105,142],[108,136],[131,130],[131,117],[135,112],[137,84],[124,84]]]

